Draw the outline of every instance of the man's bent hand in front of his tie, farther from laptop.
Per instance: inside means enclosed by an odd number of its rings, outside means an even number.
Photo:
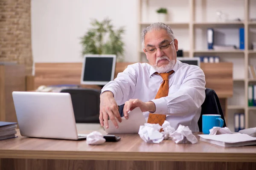
[[[132,111],[134,108],[140,107],[142,112],[145,111],[156,111],[156,105],[154,102],[142,102],[139,99],[130,99],[129,101],[125,102],[123,113],[126,119],[128,119],[128,111]]]

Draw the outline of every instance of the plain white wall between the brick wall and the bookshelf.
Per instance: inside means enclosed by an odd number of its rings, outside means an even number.
[[[79,37],[90,19],[109,17],[116,28],[125,26],[125,61],[137,61],[137,0],[32,0],[34,62],[81,62]]]

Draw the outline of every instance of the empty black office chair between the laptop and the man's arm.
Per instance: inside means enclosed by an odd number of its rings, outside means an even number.
[[[71,95],[76,123],[99,123],[100,90],[89,88],[63,89],[61,93]]]

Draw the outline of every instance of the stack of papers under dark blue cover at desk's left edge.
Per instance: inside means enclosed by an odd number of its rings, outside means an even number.
[[[17,123],[15,122],[0,122],[0,140],[15,138]]]

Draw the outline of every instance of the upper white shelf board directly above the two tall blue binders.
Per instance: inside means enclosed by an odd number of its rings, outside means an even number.
[[[244,26],[244,22],[194,22],[194,26],[203,27],[240,27]]]

